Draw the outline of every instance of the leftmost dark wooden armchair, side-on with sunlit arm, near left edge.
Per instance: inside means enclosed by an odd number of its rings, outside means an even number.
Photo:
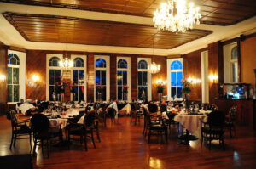
[[[15,147],[17,139],[27,138],[29,138],[30,148],[32,149],[32,129],[26,125],[28,121],[18,121],[17,116],[15,115],[15,110],[8,110],[6,115],[12,125],[12,138],[9,149],[12,149],[12,146]]]

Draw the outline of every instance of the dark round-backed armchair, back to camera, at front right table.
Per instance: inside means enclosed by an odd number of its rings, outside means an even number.
[[[208,115],[207,122],[201,122],[201,144],[204,139],[209,141],[209,149],[211,149],[212,140],[219,140],[224,149],[224,121],[225,115],[222,111],[212,111]]]

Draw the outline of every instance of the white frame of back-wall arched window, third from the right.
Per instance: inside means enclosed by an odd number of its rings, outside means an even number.
[[[119,59],[125,59],[125,61],[127,62],[127,68],[118,68]],[[126,101],[130,101],[131,100],[131,57],[118,56],[116,58],[116,76],[117,76],[117,73],[118,73],[119,70],[121,70],[121,71],[126,70],[127,71],[127,84],[126,85],[129,88],[128,88],[128,94],[127,94],[127,100]],[[118,87],[119,86],[120,85],[118,85],[118,79],[116,78],[116,99],[118,99]]]

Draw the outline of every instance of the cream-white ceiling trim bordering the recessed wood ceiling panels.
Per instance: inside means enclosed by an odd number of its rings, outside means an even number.
[[[3,17],[4,12],[13,12],[21,14],[50,14],[69,16],[75,18],[84,18],[90,20],[108,20],[125,22],[132,24],[154,25],[151,18],[131,16],[125,14],[108,14],[100,12],[91,12],[78,9],[68,8],[49,8],[30,5],[21,5],[14,3],[0,3],[0,41],[6,45],[16,46],[26,49],[38,50],[69,50],[69,51],[86,51],[86,52],[103,52],[103,53],[120,53],[120,54],[154,54],[154,55],[172,55],[187,54],[200,48],[206,48],[207,44],[217,42],[223,39],[239,36],[245,31],[253,30],[256,27],[256,17],[244,20],[236,25],[219,26],[219,25],[195,25],[195,29],[203,29],[213,31],[207,37],[202,37],[195,41],[183,44],[173,49],[152,49],[152,48],[129,48],[129,47],[112,47],[112,46],[96,46],[81,44],[50,43],[50,42],[29,42],[26,41],[13,25],[10,25]]]

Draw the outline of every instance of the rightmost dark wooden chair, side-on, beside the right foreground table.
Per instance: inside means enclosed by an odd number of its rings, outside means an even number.
[[[234,135],[236,135],[236,114],[237,114],[237,106],[234,105],[229,110],[229,115],[226,116],[225,127],[230,129],[230,138],[232,138],[232,131]]]

